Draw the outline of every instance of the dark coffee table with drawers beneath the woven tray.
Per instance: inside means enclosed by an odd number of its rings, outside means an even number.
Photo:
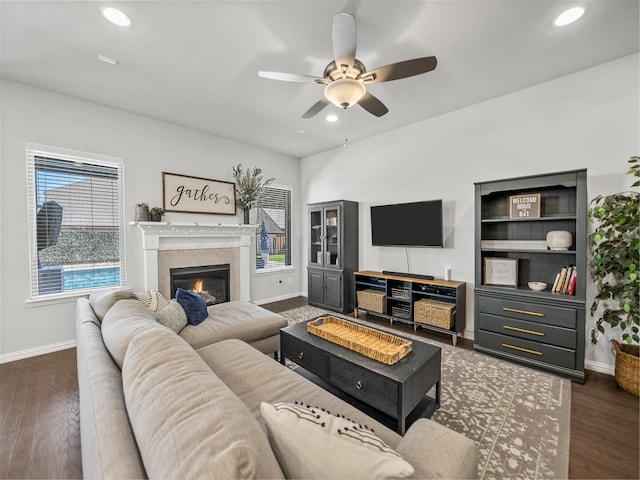
[[[309,320],[311,321],[311,320]],[[397,419],[404,435],[406,420],[418,404],[440,407],[440,348],[412,340],[412,350],[394,365],[373,360],[307,332],[302,322],[280,330],[280,361],[285,358],[339,392]],[[356,322],[357,323],[357,322]],[[324,385],[323,385],[324,386]],[[436,387],[435,399],[426,394]],[[368,412],[367,412],[368,413]]]

